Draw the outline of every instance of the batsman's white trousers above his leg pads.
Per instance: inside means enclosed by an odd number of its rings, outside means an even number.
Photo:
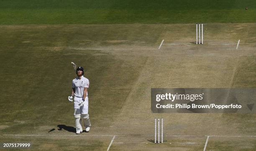
[[[74,110],[75,113],[74,115],[77,114],[88,114],[88,107],[89,107],[89,103],[88,103],[88,96],[85,98],[85,104],[83,106],[79,106],[79,104],[82,102],[82,97],[78,97],[78,96],[74,96]]]

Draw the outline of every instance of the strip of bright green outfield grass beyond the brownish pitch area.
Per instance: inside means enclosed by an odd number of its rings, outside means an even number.
[[[245,8],[248,7],[248,10]],[[254,23],[255,0],[1,0],[0,24]]]

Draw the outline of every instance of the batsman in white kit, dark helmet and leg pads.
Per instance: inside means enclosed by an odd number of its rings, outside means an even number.
[[[88,88],[89,80],[85,78],[84,68],[77,68],[77,77],[72,81],[72,93],[68,97],[69,101],[74,98],[74,118],[76,123],[76,133],[82,133],[82,121],[84,123],[85,131],[90,131],[90,119],[88,114]],[[82,117],[82,118],[81,118]]]

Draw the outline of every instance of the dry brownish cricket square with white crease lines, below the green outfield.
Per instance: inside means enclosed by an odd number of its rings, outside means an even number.
[[[255,150],[254,114],[152,114],[150,88],[255,87],[256,24],[1,25],[1,142],[33,149]],[[164,39],[160,49],[159,45]],[[238,50],[237,41],[240,39]],[[76,49],[80,48],[80,49]],[[75,77],[90,80],[90,133],[75,135]],[[155,146],[154,118],[164,118]],[[73,136],[74,135],[74,136]],[[220,137],[223,136],[223,137]]]

